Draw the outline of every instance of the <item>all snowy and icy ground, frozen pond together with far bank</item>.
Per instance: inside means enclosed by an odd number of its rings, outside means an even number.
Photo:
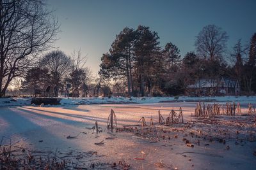
[[[212,98],[209,97],[209,99]],[[256,104],[256,97],[214,97],[214,99],[223,103],[239,101],[242,103],[241,107],[244,113],[247,111],[248,103]],[[93,103],[108,101],[108,99],[91,100]],[[115,98],[111,100],[115,100]],[[129,101],[129,99],[116,100]],[[233,126],[235,123],[232,123],[239,120],[243,124],[242,120],[244,122],[256,120],[255,117],[237,116],[234,120],[225,117],[224,120],[227,119],[228,123],[231,122],[231,125],[228,126],[211,126],[204,123],[193,125],[191,123],[192,129],[186,127],[188,124],[140,129],[140,134],[145,135],[154,132],[159,134],[159,131],[162,131],[161,135],[156,134],[161,136],[161,138],[157,138],[157,141],[136,135],[134,132],[110,132],[106,128],[111,109],[115,111],[118,127],[138,124],[141,117],[145,117],[147,124],[151,117],[154,122],[157,122],[158,110],[166,118],[170,110],[177,111],[179,107],[182,107],[185,122],[191,122],[191,113],[195,111],[196,102],[186,102],[186,100],[194,100],[194,98],[179,97],[179,100],[184,101],[158,103],[171,100],[173,100],[172,97],[133,98],[132,101],[136,104],[77,105],[79,101],[86,100],[63,99],[60,106],[54,107],[29,106],[29,99],[17,99],[11,103],[2,101],[5,106],[0,108],[0,136],[11,138],[12,143],[15,143],[16,146],[29,148],[29,150],[56,152],[58,156],[72,155],[74,162],[78,162],[76,164],[81,167],[92,162],[113,164],[113,162],[125,160],[131,164],[131,169],[159,169],[160,167],[156,166],[159,162],[164,164],[163,169],[255,169],[256,156],[253,155],[253,152],[256,151],[256,141],[247,138],[255,139],[256,134],[253,128],[256,123],[249,126]],[[95,121],[99,123],[103,132],[97,134],[90,129]],[[254,126],[252,127],[252,125]],[[218,129],[219,127],[221,129]],[[189,136],[191,131],[197,131],[196,129],[200,129],[200,134],[205,134],[207,138],[211,135],[216,136],[215,133],[219,130],[225,136],[227,133],[225,144],[216,140],[209,141],[200,138],[200,145],[197,145],[198,138]],[[236,131],[239,131],[239,134]],[[68,139],[68,136],[76,138]],[[184,138],[189,139],[195,146],[193,148],[186,146]],[[237,143],[238,138],[239,142]],[[100,141],[103,141],[104,144],[95,145]],[[8,145],[9,142],[10,140],[4,138],[5,145]],[[76,156],[82,153],[93,154],[76,160]],[[71,159],[71,156],[67,158]],[[107,167],[111,168],[109,166],[104,168]]]

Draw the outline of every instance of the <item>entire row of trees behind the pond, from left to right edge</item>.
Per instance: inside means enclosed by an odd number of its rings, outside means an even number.
[[[238,39],[228,52],[227,32],[206,25],[196,36],[195,51],[181,56],[171,41],[160,46],[150,27],[125,27],[102,55],[99,76],[92,76],[79,51],[45,54],[54,47],[60,25],[44,1],[0,0],[0,13],[0,97],[17,78],[20,90],[29,94],[49,86],[63,94],[70,84],[73,97],[188,94],[188,85],[220,76],[237,79],[243,94],[256,92],[256,33],[250,45]]]

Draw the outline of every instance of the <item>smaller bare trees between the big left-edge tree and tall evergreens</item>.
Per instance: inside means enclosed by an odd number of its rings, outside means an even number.
[[[88,97],[89,92],[93,90],[92,96],[99,96],[99,90],[102,88],[98,85],[99,78],[94,77],[85,64],[86,56],[82,56],[80,50],[74,51],[72,55],[53,50],[43,55],[35,66],[28,69],[20,90],[34,94],[35,90],[45,92],[49,87],[47,96],[56,97],[61,94],[69,97]],[[68,84],[70,87],[67,87]]]

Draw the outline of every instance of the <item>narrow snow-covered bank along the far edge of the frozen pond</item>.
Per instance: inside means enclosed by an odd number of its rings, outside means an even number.
[[[14,99],[15,101],[13,101]],[[81,104],[127,104],[127,103],[177,103],[177,102],[239,102],[241,104],[256,104],[256,96],[223,96],[223,97],[79,97],[79,98],[61,98],[61,104],[64,105],[81,105]],[[29,106],[31,98],[2,98],[0,106]]]

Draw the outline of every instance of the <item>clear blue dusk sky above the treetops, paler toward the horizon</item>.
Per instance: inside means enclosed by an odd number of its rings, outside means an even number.
[[[195,50],[195,36],[208,24],[227,31],[230,49],[239,38],[248,45],[256,32],[256,0],[48,0],[47,4],[61,24],[56,46],[67,54],[81,48],[94,73],[102,53],[126,26],[150,27],[158,32],[161,46],[171,41],[182,56]]]

